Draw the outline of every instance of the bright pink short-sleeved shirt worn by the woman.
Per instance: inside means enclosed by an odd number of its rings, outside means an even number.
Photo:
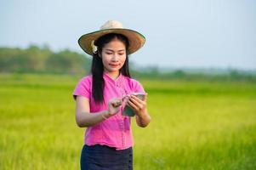
[[[103,77],[105,81],[105,102],[101,105],[96,105],[93,99],[92,76],[83,77],[73,92],[74,96],[81,95],[89,99],[91,113],[107,110],[108,101],[112,98],[121,98],[133,92],[145,93],[144,88],[139,82],[132,78],[124,77],[122,74],[120,74],[116,81],[111,79],[106,73]],[[93,127],[87,127],[84,143],[88,145],[105,144],[115,147],[117,150],[124,150],[133,146],[131,118],[129,116],[122,116],[124,105],[123,103],[117,115],[111,116]]]

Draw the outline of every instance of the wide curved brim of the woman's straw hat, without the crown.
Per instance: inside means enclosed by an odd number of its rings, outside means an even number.
[[[128,38],[128,54],[133,54],[134,52],[139,50],[139,48],[142,48],[142,46],[145,44],[145,37],[142,34],[140,34],[138,31],[124,28],[105,29],[84,34],[78,39],[78,44],[85,53],[93,55],[94,53],[91,42],[109,33],[122,34],[123,36]]]

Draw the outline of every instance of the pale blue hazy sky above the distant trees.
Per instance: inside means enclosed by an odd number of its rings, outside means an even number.
[[[135,65],[256,70],[254,0],[1,0],[0,47],[83,53],[78,38],[107,20],[145,35]]]

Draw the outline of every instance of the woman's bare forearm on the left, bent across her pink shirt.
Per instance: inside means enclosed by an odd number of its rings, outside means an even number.
[[[92,127],[108,118],[108,111],[99,111],[95,113],[81,112],[77,113],[76,121],[78,127]]]

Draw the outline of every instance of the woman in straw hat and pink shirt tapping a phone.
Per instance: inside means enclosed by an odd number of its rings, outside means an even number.
[[[141,48],[145,37],[110,20],[100,31],[80,37],[78,43],[93,56],[92,74],[83,77],[73,92],[77,125],[87,127],[81,169],[133,169],[131,116],[124,115],[124,108],[134,111],[139,127],[146,127],[151,116],[144,88],[130,77],[128,54]],[[132,93],[144,93],[145,98]]]

